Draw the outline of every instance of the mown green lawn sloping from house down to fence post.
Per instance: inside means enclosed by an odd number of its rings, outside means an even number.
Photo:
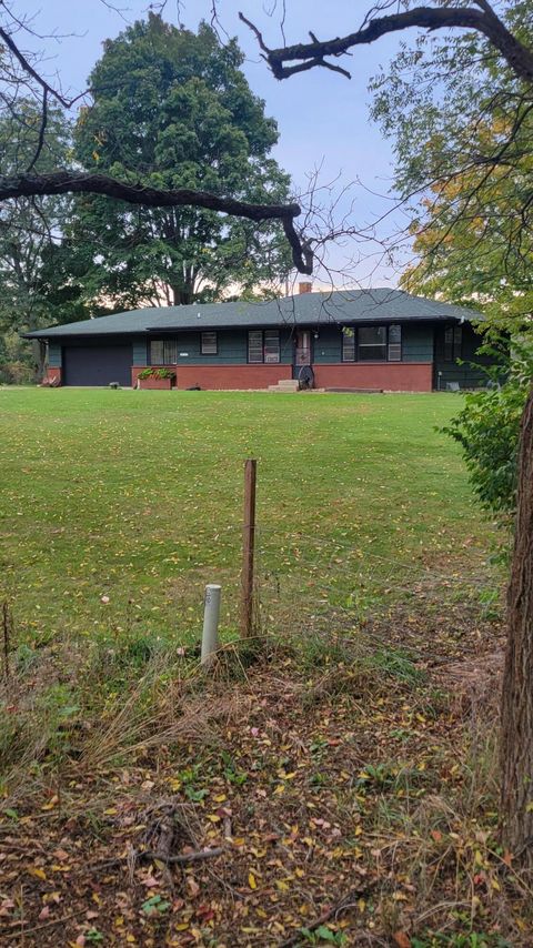
[[[444,394],[0,389],[0,596],[17,641],[189,639],[205,582],[222,583],[231,634],[249,456],[274,625],[435,574],[486,579],[491,527],[456,446],[435,431],[460,405]]]

